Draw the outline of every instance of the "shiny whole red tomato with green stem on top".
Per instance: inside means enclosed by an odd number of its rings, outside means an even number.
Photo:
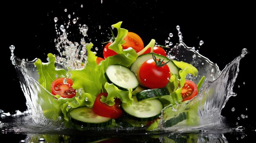
[[[139,69],[139,78],[147,88],[164,88],[168,84],[170,77],[169,67],[167,65],[157,66],[154,59],[148,59]]]

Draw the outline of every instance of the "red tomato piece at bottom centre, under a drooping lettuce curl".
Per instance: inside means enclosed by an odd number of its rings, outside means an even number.
[[[99,116],[108,117],[112,119],[117,119],[123,115],[123,111],[120,108],[120,99],[115,99],[115,105],[108,106],[106,103],[101,102],[101,96],[107,97],[108,93],[100,93],[93,104],[92,110]]]

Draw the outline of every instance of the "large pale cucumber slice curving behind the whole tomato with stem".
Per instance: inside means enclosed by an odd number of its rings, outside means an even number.
[[[167,62],[169,61],[170,59],[168,59],[167,57],[164,57],[162,55],[158,55],[158,54],[155,54],[154,55],[159,59],[164,59],[164,62]],[[140,81],[140,78],[139,78],[139,69],[141,67],[141,65],[146,62],[148,59],[152,59],[152,53],[148,53],[148,54],[143,54],[143,55],[140,55],[139,57],[137,57],[136,61],[134,63],[132,63],[130,69],[135,73],[135,75],[137,76],[137,79],[139,81],[139,85],[140,86],[143,86],[145,87],[141,81]],[[167,63],[169,69],[170,69],[170,72],[172,74],[176,74],[179,76],[179,68],[173,63],[173,61],[170,61]]]

